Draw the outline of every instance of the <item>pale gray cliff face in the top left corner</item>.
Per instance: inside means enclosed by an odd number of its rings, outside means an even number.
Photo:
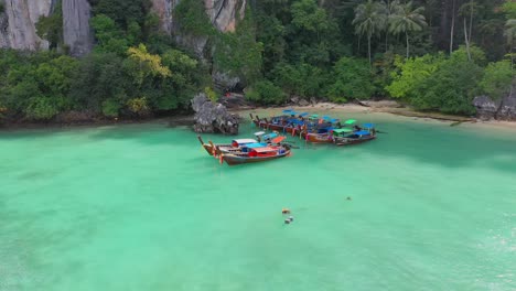
[[[36,34],[35,23],[40,17],[47,17],[53,0],[0,0],[0,47],[15,50],[47,48],[49,42]]]

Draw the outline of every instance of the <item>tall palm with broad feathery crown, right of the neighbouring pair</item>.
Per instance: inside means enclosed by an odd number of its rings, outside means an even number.
[[[396,10],[390,18],[389,31],[396,35],[405,33],[407,40],[407,58],[410,53],[409,32],[421,31],[423,26],[427,26],[427,20],[422,14],[423,11],[423,7],[413,9],[412,2],[410,1],[407,4],[396,6]]]

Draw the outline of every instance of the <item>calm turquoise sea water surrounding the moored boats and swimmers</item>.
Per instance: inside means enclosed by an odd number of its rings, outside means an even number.
[[[516,132],[367,118],[232,168],[161,123],[2,132],[0,290],[514,290]]]

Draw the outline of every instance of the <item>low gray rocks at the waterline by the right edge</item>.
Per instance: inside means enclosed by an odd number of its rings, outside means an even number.
[[[516,86],[512,93],[499,100],[493,100],[488,96],[479,96],[473,100],[476,115],[482,120],[497,119],[516,121]]]

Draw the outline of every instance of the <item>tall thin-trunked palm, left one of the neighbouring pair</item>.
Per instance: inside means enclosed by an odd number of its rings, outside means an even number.
[[[370,58],[370,37],[374,34],[378,34],[386,28],[387,23],[387,11],[384,2],[374,2],[367,0],[355,8],[355,19],[353,25],[355,25],[355,33],[358,35],[367,36],[367,52]]]

